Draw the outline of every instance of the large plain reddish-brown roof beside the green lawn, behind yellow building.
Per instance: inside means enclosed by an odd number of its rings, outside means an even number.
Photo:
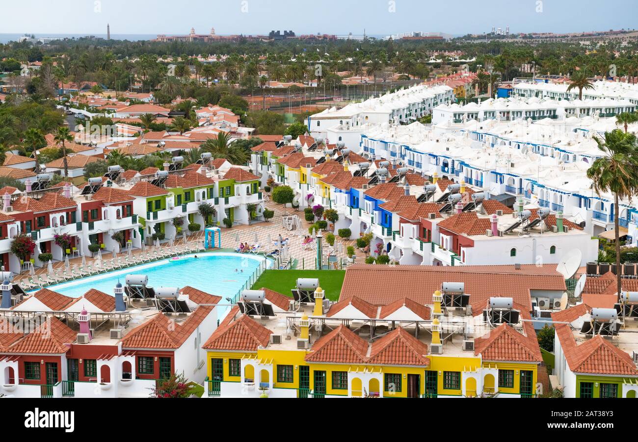
[[[566,290],[564,276],[551,264],[523,264],[519,270],[514,266],[353,264],[346,269],[339,301],[357,296],[370,304],[385,305],[410,294],[416,303],[432,304],[432,294],[445,281],[465,283],[472,305],[491,296],[508,296],[526,310],[531,308],[530,290]]]

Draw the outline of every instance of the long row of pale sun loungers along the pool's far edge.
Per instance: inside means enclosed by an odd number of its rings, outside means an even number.
[[[137,266],[138,264],[185,255],[186,253],[199,252],[200,250],[201,243],[199,241],[190,241],[173,246],[149,247],[145,252],[138,253],[137,255],[123,255],[113,259],[94,259],[91,262],[87,262],[84,266],[74,264],[73,267],[55,269],[53,274],[41,273],[27,276],[26,278],[22,278],[19,283],[24,290],[41,289],[45,285],[84,278],[84,276]]]

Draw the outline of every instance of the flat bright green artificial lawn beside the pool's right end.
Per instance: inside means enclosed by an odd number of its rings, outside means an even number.
[[[345,275],[345,270],[266,270],[252,289],[265,287],[292,297],[290,290],[295,288],[297,278],[319,278],[319,285],[325,292],[326,299],[338,301]]]

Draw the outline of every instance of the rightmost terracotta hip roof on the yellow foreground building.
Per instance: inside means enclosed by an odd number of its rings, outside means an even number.
[[[533,331],[533,327],[532,327]],[[536,334],[524,336],[508,324],[501,324],[487,337],[474,340],[474,354],[483,360],[542,362]]]

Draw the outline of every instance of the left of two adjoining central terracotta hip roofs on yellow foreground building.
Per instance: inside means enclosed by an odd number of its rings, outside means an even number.
[[[319,338],[304,359],[306,362],[365,364],[367,350],[368,343],[365,339],[348,330],[345,325],[339,325]]]

